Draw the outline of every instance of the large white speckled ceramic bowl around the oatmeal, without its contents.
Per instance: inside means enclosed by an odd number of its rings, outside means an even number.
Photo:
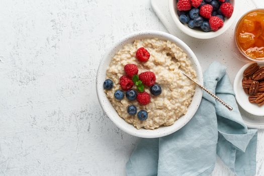
[[[114,124],[117,125],[118,128],[123,130],[126,133],[129,133],[134,136],[143,137],[143,138],[156,138],[156,137],[162,137],[168,134],[171,134],[179,129],[181,129],[185,124],[187,124],[192,117],[194,116],[195,112],[197,111],[201,99],[202,99],[202,90],[199,87],[196,87],[195,95],[193,97],[193,101],[191,105],[188,108],[188,112],[186,115],[182,116],[179,120],[175,121],[175,123],[171,126],[167,127],[160,127],[155,130],[147,130],[147,129],[136,129],[133,125],[128,124],[123,120],[116,110],[113,108],[112,104],[106,97],[106,94],[104,93],[103,89],[103,83],[106,79],[106,70],[107,67],[112,60],[115,53],[121,49],[125,44],[132,43],[136,39],[144,39],[144,38],[159,38],[162,40],[169,40],[171,42],[176,43],[179,47],[181,47],[191,58],[193,67],[197,72],[197,80],[201,84],[203,84],[203,74],[202,69],[199,64],[199,61],[197,60],[195,54],[193,51],[180,39],[177,37],[174,37],[170,34],[159,32],[159,31],[143,31],[143,32],[137,32],[134,34],[131,34],[129,36],[124,37],[121,39],[117,44],[113,45],[113,48],[111,48],[105,55],[105,57],[101,60],[101,63],[98,68],[97,72],[97,96],[100,102],[100,105],[102,106],[103,110],[106,112],[107,116],[114,122]],[[137,118],[137,117],[135,117]]]

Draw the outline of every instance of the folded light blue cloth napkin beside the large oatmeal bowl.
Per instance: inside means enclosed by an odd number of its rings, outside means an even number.
[[[126,164],[128,176],[210,175],[216,154],[236,175],[255,174],[257,130],[247,129],[241,118],[226,67],[212,63],[204,85],[233,111],[204,92],[198,111],[182,129],[137,144]]]

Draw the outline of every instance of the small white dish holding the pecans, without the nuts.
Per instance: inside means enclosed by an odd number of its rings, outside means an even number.
[[[254,62],[245,64],[236,74],[234,80],[234,92],[237,103],[243,108],[246,112],[255,115],[255,116],[264,116],[264,106],[259,107],[257,104],[250,103],[248,101],[248,95],[244,92],[242,87],[242,79],[244,70]],[[259,66],[264,66],[262,62],[256,62]]]

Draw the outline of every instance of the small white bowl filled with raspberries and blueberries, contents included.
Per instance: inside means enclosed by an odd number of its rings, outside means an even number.
[[[224,33],[235,21],[235,0],[168,0],[177,27],[189,36],[210,39]]]

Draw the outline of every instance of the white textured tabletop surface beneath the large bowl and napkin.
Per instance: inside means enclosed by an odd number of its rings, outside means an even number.
[[[138,138],[103,113],[96,71],[114,42],[148,29],[166,31],[148,0],[0,0],[0,175],[125,175]],[[234,174],[218,159],[212,175]]]

